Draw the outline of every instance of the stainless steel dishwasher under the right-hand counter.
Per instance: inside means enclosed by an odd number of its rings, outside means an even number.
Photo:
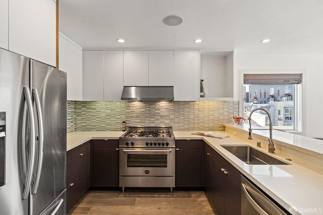
[[[241,176],[241,214],[279,215],[291,213],[285,212],[245,177]]]

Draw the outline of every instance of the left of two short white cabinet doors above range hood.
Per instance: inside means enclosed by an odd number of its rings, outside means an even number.
[[[148,86],[148,51],[124,51],[124,86]]]

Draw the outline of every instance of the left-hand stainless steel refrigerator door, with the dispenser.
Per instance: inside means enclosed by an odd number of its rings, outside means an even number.
[[[28,214],[28,199],[19,186],[18,115],[23,88],[29,87],[29,58],[0,48],[0,112],[6,113],[5,184],[0,187],[0,214]]]

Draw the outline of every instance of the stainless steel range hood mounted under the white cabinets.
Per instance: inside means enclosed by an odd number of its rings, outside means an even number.
[[[121,100],[173,101],[174,87],[123,87]]]

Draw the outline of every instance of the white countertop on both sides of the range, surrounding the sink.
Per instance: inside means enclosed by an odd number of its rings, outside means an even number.
[[[174,131],[176,139],[203,139],[242,174],[252,180],[264,192],[274,198],[283,207],[297,208],[299,213],[293,214],[323,214],[323,175],[312,169],[307,169],[297,162],[288,161],[291,165],[248,165],[229,153],[221,145],[250,145],[235,135],[225,139],[205,137],[192,134],[196,131]],[[73,149],[90,139],[118,139],[122,131],[76,131],[68,133],[67,150]],[[266,148],[257,148],[264,153]],[[271,156],[285,160],[286,156],[274,154]]]

